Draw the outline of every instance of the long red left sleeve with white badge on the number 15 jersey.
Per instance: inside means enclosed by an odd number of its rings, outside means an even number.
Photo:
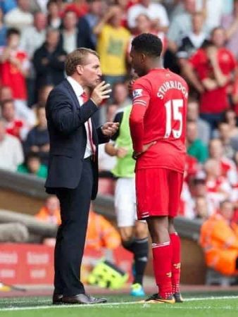
[[[133,149],[141,152],[144,139],[144,115],[151,99],[151,87],[149,82],[140,79],[133,85],[133,103],[130,113],[130,134],[132,137]]]

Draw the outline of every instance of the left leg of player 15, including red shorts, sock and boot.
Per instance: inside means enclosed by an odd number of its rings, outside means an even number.
[[[146,219],[152,240],[153,264],[158,293],[148,302],[174,303],[171,282],[172,250],[168,233],[168,170],[138,170],[137,215]]]

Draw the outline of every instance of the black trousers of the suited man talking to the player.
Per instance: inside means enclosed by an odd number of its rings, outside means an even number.
[[[62,223],[56,236],[54,251],[54,287],[56,294],[72,296],[84,293],[80,267],[84,252],[93,171],[90,160],[83,161],[82,176],[75,189],[59,188]]]

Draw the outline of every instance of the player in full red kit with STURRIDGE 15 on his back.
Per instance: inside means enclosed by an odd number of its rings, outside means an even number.
[[[177,215],[186,159],[188,87],[179,75],[159,68],[163,45],[150,33],[132,41],[132,68],[139,76],[130,113],[136,159],[137,216],[146,220],[152,240],[158,294],[146,302],[182,302]],[[173,297],[174,295],[174,297]]]

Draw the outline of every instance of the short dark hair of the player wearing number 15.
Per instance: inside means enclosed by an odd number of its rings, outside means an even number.
[[[163,49],[162,41],[156,35],[151,33],[142,33],[132,40],[132,47],[148,56],[160,57]]]

